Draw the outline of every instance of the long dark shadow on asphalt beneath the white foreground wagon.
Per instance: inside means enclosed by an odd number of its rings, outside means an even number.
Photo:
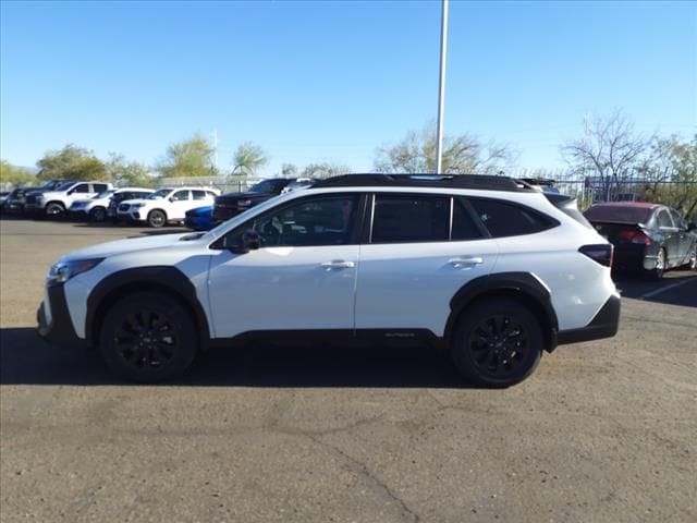
[[[33,328],[0,329],[0,385],[132,385],[114,377],[95,351],[57,349]],[[213,349],[168,386],[467,387],[429,348],[274,346]]]

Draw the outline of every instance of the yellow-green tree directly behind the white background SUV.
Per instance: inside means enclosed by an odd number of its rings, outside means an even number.
[[[156,169],[164,178],[215,177],[218,172],[212,161],[213,153],[213,146],[200,134],[195,134],[170,145]]]

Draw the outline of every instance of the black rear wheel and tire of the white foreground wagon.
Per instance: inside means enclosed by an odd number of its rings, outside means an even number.
[[[528,307],[511,299],[490,297],[462,314],[451,355],[468,382],[502,388],[535,372],[543,345],[540,321]]]

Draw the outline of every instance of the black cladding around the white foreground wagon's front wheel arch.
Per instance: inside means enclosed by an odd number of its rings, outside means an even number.
[[[198,329],[200,348],[207,348],[210,330],[204,307],[191,280],[174,267],[138,267],[114,272],[101,280],[87,297],[85,318],[87,342],[97,346],[106,312],[134,292],[160,292],[178,300],[192,314]]]

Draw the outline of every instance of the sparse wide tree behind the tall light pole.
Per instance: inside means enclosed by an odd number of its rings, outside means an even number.
[[[505,145],[482,144],[469,134],[443,138],[442,172],[450,174],[494,173],[513,157]],[[399,143],[380,147],[375,160],[378,172],[436,172],[436,126],[409,131]]]

